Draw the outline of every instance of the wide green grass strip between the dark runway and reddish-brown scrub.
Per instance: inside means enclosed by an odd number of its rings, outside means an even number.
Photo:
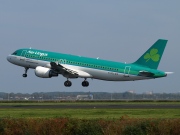
[[[0,118],[180,118],[180,109],[0,109]]]

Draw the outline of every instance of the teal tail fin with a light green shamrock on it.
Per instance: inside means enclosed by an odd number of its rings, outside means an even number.
[[[141,66],[149,67],[152,69],[157,69],[161,57],[163,55],[164,49],[166,47],[167,40],[159,39],[157,40],[136,62],[133,64],[138,64]]]

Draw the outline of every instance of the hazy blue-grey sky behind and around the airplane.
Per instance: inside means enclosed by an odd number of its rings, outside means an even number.
[[[0,92],[180,92],[179,0],[1,0]],[[111,82],[66,78],[42,79],[12,65],[7,55],[20,48],[34,48],[117,62],[136,61],[158,39],[168,43],[159,70],[174,72],[164,78]]]

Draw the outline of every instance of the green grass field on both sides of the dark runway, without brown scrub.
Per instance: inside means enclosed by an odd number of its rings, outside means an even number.
[[[27,109],[10,108],[1,109],[1,106],[28,106],[28,105],[91,105],[92,109]],[[118,119],[122,116],[131,118],[180,118],[180,109],[99,109],[93,106],[99,104],[117,105],[117,104],[180,104],[180,102],[41,102],[41,103],[0,103],[0,117],[11,118],[80,118],[80,119]]]

